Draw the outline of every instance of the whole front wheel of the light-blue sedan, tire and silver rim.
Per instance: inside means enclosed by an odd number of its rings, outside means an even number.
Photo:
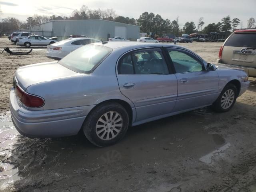
[[[237,98],[237,88],[234,84],[227,84],[218,99],[212,104],[212,107],[217,112],[227,112],[235,104]]]

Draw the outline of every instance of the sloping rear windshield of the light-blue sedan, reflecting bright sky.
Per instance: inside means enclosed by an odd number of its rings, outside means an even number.
[[[58,63],[74,72],[90,74],[111,50],[108,47],[86,45],[71,52]]]

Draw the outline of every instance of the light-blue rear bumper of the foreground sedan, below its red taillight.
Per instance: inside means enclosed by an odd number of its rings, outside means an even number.
[[[20,134],[34,138],[76,135],[93,107],[28,110],[18,104],[14,88],[10,92],[10,112],[14,126]]]

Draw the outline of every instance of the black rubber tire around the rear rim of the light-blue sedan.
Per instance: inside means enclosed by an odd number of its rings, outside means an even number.
[[[119,133],[116,134],[116,136],[114,136],[114,138],[112,138],[110,140],[104,140],[104,139],[101,139],[97,135],[96,125],[97,125],[97,123],[100,123],[99,120],[102,118],[102,116],[104,114],[106,114],[106,113],[108,114],[110,112],[117,112],[121,116],[122,127],[119,129],[120,130]],[[114,116],[114,114],[113,114],[113,116]],[[106,121],[108,121],[108,120],[106,120]],[[109,123],[109,125],[110,125],[110,123]],[[103,133],[101,136],[103,136],[103,135],[106,136],[106,132],[110,132],[110,130],[108,128],[109,125],[106,126],[102,123],[102,128],[99,128],[99,129],[100,130],[105,129],[105,130],[102,131]],[[125,108],[116,102],[108,102],[108,103],[103,103],[103,104],[100,104],[99,106],[96,106],[96,108],[94,108],[90,112],[90,114],[84,121],[82,129],[84,131],[84,135],[92,144],[94,144],[95,146],[98,146],[98,147],[104,147],[104,146],[113,145],[113,144],[117,143],[119,140],[121,140],[124,137],[124,135],[126,134],[128,126],[129,126],[129,116],[128,116],[128,113],[125,110]],[[114,127],[114,129],[115,128],[116,127]],[[114,129],[112,130],[112,132],[114,131]],[[108,134],[110,135],[110,133],[108,133]],[[108,136],[108,134],[107,134],[107,136]]]

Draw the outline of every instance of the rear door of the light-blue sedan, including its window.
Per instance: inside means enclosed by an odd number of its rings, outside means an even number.
[[[136,121],[169,114],[177,97],[177,78],[171,74],[161,48],[129,52],[118,62],[120,91],[136,107]]]

